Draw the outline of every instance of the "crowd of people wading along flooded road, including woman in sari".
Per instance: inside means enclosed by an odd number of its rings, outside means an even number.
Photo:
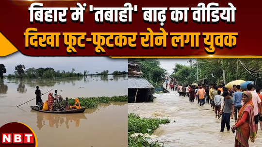
[[[171,88],[172,83],[174,88]],[[190,103],[197,101],[199,107],[210,104],[214,117],[221,117],[221,132],[236,132],[235,147],[248,147],[248,140],[255,141],[258,125],[262,130],[262,87],[248,83],[243,89],[233,85],[228,89],[224,84],[217,85],[182,85],[170,82],[170,89],[177,90],[180,97],[189,97]],[[234,125],[230,127],[230,119]]]

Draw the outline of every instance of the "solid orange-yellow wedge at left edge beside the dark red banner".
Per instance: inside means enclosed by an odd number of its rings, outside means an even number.
[[[4,57],[16,52],[18,49],[0,33],[0,57]]]

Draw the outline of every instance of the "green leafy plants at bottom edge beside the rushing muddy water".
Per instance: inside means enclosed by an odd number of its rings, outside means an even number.
[[[131,137],[134,133],[148,133],[151,135],[160,124],[170,123],[169,119],[140,118],[136,114],[128,114],[128,146],[129,147],[163,147],[158,141],[148,143],[149,137],[138,135]]]

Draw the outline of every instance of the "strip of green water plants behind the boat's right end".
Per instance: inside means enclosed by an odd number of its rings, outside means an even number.
[[[70,105],[75,104],[75,99],[68,99]],[[114,97],[92,97],[92,98],[79,98],[80,106],[87,108],[98,108],[101,103],[111,103],[114,101],[128,101],[128,96],[114,96]]]

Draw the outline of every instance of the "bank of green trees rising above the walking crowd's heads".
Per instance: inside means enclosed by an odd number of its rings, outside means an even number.
[[[223,82],[223,69],[225,80],[245,80],[262,84],[262,60],[260,58],[213,58],[196,59],[197,63],[192,66],[176,65],[172,77],[179,82],[198,82],[199,84],[220,84]],[[197,66],[198,78],[197,81]]]

